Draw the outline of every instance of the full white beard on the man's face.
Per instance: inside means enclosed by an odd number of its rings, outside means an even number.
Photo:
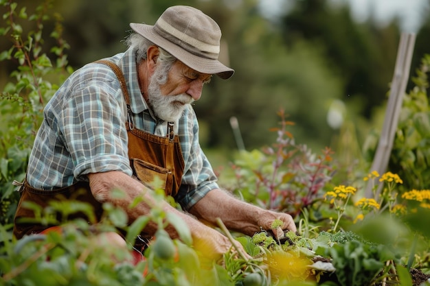
[[[159,82],[157,82],[157,70],[149,80],[148,103],[152,107],[155,116],[164,121],[176,122],[182,115],[187,104],[192,104],[194,99],[185,93],[181,95],[163,95]]]

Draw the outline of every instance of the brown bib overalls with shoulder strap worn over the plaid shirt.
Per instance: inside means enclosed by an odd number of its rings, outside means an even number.
[[[160,178],[161,182],[165,182],[163,187],[166,195],[174,197],[181,186],[185,164],[181,145],[179,145],[179,137],[174,135],[173,132],[173,124],[168,123],[168,134],[166,137],[156,136],[143,130],[135,129],[130,108],[130,98],[122,71],[116,64],[107,60],[100,60],[98,62],[111,67],[115,75],[117,75],[118,80],[120,80],[122,93],[127,104],[128,120],[126,122],[126,130],[128,134],[128,158],[130,158],[133,175],[147,187],[151,187],[150,184],[155,178]],[[45,208],[52,201],[78,200],[80,202],[88,202],[94,208],[95,222],[91,222],[93,219],[90,219],[84,213],[76,213],[69,215],[69,217],[60,217],[60,214],[57,213],[57,222],[64,222],[65,220],[79,217],[87,220],[89,223],[97,223],[100,222],[102,217],[102,204],[93,197],[89,188],[89,182],[77,182],[70,187],[55,189],[54,191],[43,191],[41,189],[34,189],[25,180],[20,193],[21,199],[16,209],[13,230],[14,236],[18,239],[23,237],[23,235],[41,233],[46,228],[53,226],[53,224],[41,224],[34,221],[34,211],[23,207],[23,202],[33,202]]]

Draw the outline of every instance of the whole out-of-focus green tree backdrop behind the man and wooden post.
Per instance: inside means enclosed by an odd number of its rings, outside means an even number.
[[[21,0],[20,5],[32,10],[38,2]],[[287,2],[280,5],[277,17],[262,13],[273,5],[267,0],[57,0],[53,4],[63,17],[64,38],[70,45],[67,55],[74,69],[124,51],[128,23],[152,25],[170,5],[193,5],[212,16],[223,31],[221,60],[236,73],[227,81],[215,78],[194,106],[201,144],[209,156],[210,150],[223,150],[228,158],[229,151],[236,150],[229,125],[233,116],[247,150],[272,143],[276,134],[269,128],[278,126],[277,112],[283,109],[296,123],[291,127],[296,141],[314,150],[326,146],[339,153],[348,150],[343,156],[354,157],[372,128],[382,127],[400,21],[381,26],[370,17],[358,23],[347,1]],[[283,12],[286,6],[288,12]],[[430,14],[429,5],[423,14]],[[429,34],[427,16],[417,31],[411,73],[429,53]],[[0,42],[0,50],[9,47],[10,43]],[[0,89],[11,64],[2,62]],[[214,165],[219,158],[214,156]]]

